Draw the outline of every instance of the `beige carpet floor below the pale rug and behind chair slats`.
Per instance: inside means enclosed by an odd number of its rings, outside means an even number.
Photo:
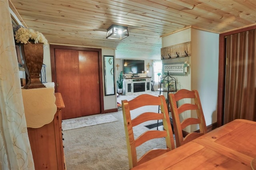
[[[121,100],[124,99],[131,100],[132,97],[120,96],[118,102],[121,103]],[[158,111],[158,106],[149,106],[143,109],[144,111]],[[129,169],[122,111],[111,113],[111,115],[118,121],[63,131],[67,170]],[[132,112],[132,118],[136,115],[136,112]],[[149,121],[134,127],[135,136],[148,130],[144,125],[150,123],[156,122]],[[138,156],[142,156],[148,147],[152,149],[165,148],[165,139],[144,143],[137,149]]]

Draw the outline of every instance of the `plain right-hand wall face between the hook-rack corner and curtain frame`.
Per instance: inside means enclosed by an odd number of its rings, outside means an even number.
[[[219,34],[191,29],[191,49],[191,88],[198,90],[210,125],[217,121]]]

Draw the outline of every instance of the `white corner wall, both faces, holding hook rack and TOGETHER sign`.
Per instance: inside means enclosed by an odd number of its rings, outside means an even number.
[[[163,37],[162,47],[189,41],[191,41],[190,57],[166,59],[163,60],[163,64],[189,61],[190,67],[186,75],[173,75],[173,77],[176,78],[178,90],[182,88],[198,90],[206,125],[211,125],[217,121],[219,35],[189,28]],[[186,112],[180,119],[183,120],[190,116],[191,112]],[[192,126],[185,131],[190,132],[197,129],[197,126]]]

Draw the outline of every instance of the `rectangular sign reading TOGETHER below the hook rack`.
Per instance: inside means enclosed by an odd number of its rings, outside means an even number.
[[[170,74],[186,74],[184,71],[184,62],[164,64],[164,72]]]

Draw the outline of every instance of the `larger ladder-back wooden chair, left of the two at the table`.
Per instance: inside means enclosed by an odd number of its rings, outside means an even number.
[[[156,107],[156,112],[142,111],[142,113],[139,113],[139,115],[136,118],[131,119],[130,111],[143,106],[160,106],[162,113],[158,113],[158,108]],[[133,168],[139,164],[142,164],[143,162],[146,162],[152,158],[155,158],[156,156],[159,156],[174,149],[172,127],[170,124],[169,113],[164,96],[160,95],[156,97],[148,94],[142,94],[130,101],[122,100],[122,109],[130,168]],[[143,108],[140,110],[143,110]],[[148,130],[142,133],[138,138],[134,139],[135,137],[133,127],[146,121],[161,119],[163,121],[164,126],[163,131]],[[165,137],[166,139],[166,149],[149,149],[148,152],[146,152],[137,160],[136,147],[142,145],[143,143],[151,139],[162,137]]]

